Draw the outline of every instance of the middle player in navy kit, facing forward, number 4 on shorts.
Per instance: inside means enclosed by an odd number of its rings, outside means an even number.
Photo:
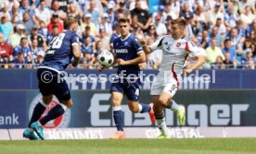
[[[125,138],[121,108],[124,95],[126,95],[127,104],[133,113],[149,113],[152,124],[155,124],[152,106],[138,102],[141,85],[139,64],[146,61],[146,54],[143,52],[140,42],[129,32],[129,18],[119,19],[119,30],[120,37],[113,41],[113,53],[115,62],[118,64],[118,71],[110,88],[113,118],[117,127],[117,132],[110,137],[112,139]]]

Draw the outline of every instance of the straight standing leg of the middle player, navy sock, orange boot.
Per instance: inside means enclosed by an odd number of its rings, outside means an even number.
[[[122,103],[123,94],[120,91],[111,91],[111,104],[113,110],[113,118],[117,127],[117,132],[111,136],[112,139],[122,139],[125,138],[123,133],[123,115],[122,115]]]

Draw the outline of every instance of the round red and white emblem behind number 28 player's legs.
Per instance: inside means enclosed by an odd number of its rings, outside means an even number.
[[[32,112],[36,104],[42,101],[42,96],[41,94],[38,94],[31,102],[30,105],[30,110],[29,110],[29,117],[31,119],[32,117]],[[51,103],[47,106],[45,109],[45,112],[41,115],[40,119],[43,118],[49,111],[57,106],[59,104],[58,99],[56,97],[53,98]],[[47,124],[44,125],[45,128],[65,128],[68,127],[70,124],[70,118],[71,118],[71,113],[70,110],[67,110],[64,114],[60,115],[58,118],[48,122]]]

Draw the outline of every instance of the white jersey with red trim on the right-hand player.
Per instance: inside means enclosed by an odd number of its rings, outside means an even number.
[[[172,36],[166,35],[150,45],[155,51],[162,50],[162,61],[160,71],[172,71],[172,74],[182,74],[186,57],[189,53],[192,56],[203,54],[198,50],[196,44],[186,39],[174,40]]]

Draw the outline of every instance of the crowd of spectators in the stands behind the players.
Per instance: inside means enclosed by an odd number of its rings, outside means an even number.
[[[150,13],[147,0],[0,0],[0,69],[35,68],[47,45],[77,18],[82,44],[79,68],[96,68],[96,56],[111,51],[119,36],[118,18],[131,18],[131,32],[147,44],[171,31],[171,21],[186,19],[186,37],[207,55],[206,69],[255,69],[255,0],[162,0]],[[157,69],[161,51],[141,68]],[[186,66],[193,64],[188,56]]]

